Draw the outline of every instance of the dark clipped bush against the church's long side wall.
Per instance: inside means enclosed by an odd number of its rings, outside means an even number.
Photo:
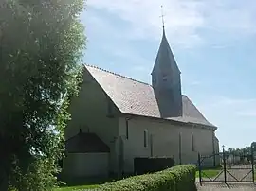
[[[152,173],[173,167],[175,164],[173,158],[135,158],[134,166],[137,175]]]

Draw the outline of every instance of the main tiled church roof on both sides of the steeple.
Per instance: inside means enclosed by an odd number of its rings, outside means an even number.
[[[85,65],[85,68],[99,83],[102,90],[111,98],[121,113],[162,118],[154,89],[150,84],[123,77],[96,66]],[[182,103],[182,116],[165,119],[216,129],[192,104],[188,96],[182,96]]]

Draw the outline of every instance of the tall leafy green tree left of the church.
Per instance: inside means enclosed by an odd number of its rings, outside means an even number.
[[[0,3],[0,190],[50,190],[81,82],[83,0]]]

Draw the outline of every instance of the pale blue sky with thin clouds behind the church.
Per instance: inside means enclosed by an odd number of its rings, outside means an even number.
[[[220,147],[250,145],[256,141],[255,0],[87,0],[84,62],[151,83],[161,5],[182,93],[218,127]]]

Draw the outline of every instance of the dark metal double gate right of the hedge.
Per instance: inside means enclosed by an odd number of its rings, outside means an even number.
[[[203,182],[255,182],[256,158],[250,153],[225,151],[212,155],[198,154],[197,178]]]

